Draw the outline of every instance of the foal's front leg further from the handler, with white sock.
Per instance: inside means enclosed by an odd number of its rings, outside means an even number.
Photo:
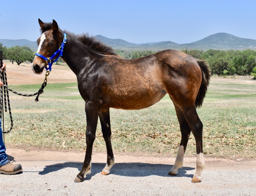
[[[107,147],[107,164],[105,168],[101,171],[102,175],[108,175],[110,173],[110,169],[115,164],[115,159],[113,155],[112,145],[111,145],[111,128],[110,128],[110,115],[109,108],[100,110],[100,124],[101,130],[103,134],[103,138]]]

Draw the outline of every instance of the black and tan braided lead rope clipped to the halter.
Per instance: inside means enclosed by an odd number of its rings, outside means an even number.
[[[41,88],[38,90],[38,92],[36,92],[34,94],[29,94],[29,95],[18,93],[16,91],[10,89],[8,87],[8,84],[7,84],[7,77],[6,77],[5,69],[0,68],[0,72],[1,72],[0,79],[3,82],[3,84],[4,84],[0,88],[0,101],[1,101],[1,103],[0,103],[0,118],[2,119],[2,124],[3,124],[2,125],[2,127],[3,127],[2,132],[5,134],[5,133],[9,133],[12,130],[12,126],[13,126],[12,112],[11,112],[11,107],[10,107],[10,100],[9,100],[8,90],[10,90],[11,92],[13,92],[13,93],[15,93],[17,95],[24,96],[24,97],[31,97],[31,96],[37,95],[36,98],[35,98],[35,102],[37,102],[37,101],[39,101],[38,100],[39,95],[41,95],[44,92],[44,87],[47,84],[47,76],[50,74],[50,72],[46,71],[44,82],[43,82]],[[3,93],[3,90],[4,90],[4,93]],[[5,112],[7,112],[6,97],[7,97],[9,114],[10,114],[10,120],[11,120],[11,127],[10,127],[10,129],[8,131],[4,131],[4,111],[3,111],[3,108],[5,108]],[[3,100],[4,100],[4,102],[3,102]]]

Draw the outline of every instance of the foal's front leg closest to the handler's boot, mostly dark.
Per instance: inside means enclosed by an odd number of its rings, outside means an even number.
[[[92,102],[85,103],[86,113],[86,152],[82,170],[76,176],[75,182],[84,181],[84,175],[91,173],[92,166],[92,145],[95,140],[95,133],[98,123],[99,110]]]

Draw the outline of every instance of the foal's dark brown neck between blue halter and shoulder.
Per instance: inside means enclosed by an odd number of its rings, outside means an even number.
[[[68,67],[77,75],[81,69],[89,67],[95,59],[95,54],[86,46],[67,34],[67,43],[63,50],[62,59]]]

